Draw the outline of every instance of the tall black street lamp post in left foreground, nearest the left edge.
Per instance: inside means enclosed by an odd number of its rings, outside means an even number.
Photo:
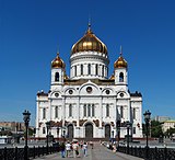
[[[27,134],[28,134],[28,123],[30,123],[30,116],[31,113],[28,111],[24,111],[23,113],[23,121],[25,123],[25,147],[24,147],[24,160],[28,160],[28,155],[27,155]]]

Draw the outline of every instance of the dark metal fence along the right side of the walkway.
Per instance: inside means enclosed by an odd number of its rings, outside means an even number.
[[[119,152],[127,153],[127,147],[119,147]],[[175,160],[175,149],[130,147],[129,155],[144,160]]]

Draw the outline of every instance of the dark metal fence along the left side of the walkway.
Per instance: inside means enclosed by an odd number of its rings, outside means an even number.
[[[33,147],[28,149],[28,159],[35,159],[36,157],[40,157],[47,155],[47,147]],[[48,148],[48,153],[58,152],[59,146],[51,146]],[[1,148],[0,149],[0,160],[24,160],[24,148]]]

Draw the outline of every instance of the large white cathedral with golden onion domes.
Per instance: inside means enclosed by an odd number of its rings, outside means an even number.
[[[122,50],[108,77],[106,45],[91,25],[70,54],[70,77],[59,53],[51,61],[50,89],[36,96],[36,135],[46,138],[142,137],[142,95],[128,89],[128,62]],[[47,127],[49,122],[49,129]],[[129,123],[128,123],[129,122]]]

